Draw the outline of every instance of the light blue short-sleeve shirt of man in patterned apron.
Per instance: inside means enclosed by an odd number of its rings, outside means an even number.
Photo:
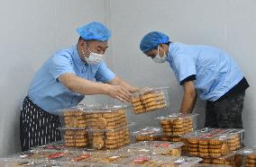
[[[85,96],[69,91],[58,81],[59,75],[66,73],[103,83],[111,81],[115,76],[104,61],[98,65],[88,65],[82,61],[76,46],[59,50],[34,75],[29,88],[30,99],[51,113],[77,105]]]

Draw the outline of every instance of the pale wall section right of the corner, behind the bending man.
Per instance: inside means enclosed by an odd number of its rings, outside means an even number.
[[[253,75],[256,62],[256,1],[112,0],[110,6],[114,71],[133,84],[169,85],[171,112],[178,111],[182,88],[167,64],[156,65],[142,55],[139,48],[142,36],[149,31],[164,31],[172,41],[212,45],[229,52],[251,84],[245,97],[243,122],[245,143],[256,146],[256,78]],[[195,110],[201,113],[199,127],[202,127],[205,102],[197,101]],[[143,124],[153,121],[147,115],[139,120]]]

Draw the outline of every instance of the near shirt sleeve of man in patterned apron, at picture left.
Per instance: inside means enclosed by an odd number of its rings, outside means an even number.
[[[71,56],[69,56],[69,53],[63,52],[61,54],[56,54],[51,57],[49,71],[56,81],[58,81],[58,77],[60,75],[66,73],[72,73],[76,75]]]

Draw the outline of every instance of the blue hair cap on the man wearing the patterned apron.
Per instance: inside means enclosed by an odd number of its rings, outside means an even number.
[[[100,22],[90,22],[77,29],[78,34],[85,40],[108,40],[111,32]]]

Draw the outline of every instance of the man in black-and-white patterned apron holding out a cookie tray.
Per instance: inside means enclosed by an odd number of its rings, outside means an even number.
[[[105,94],[119,101],[130,101],[138,89],[107,68],[105,55],[110,31],[100,22],[78,29],[78,44],[57,51],[37,71],[20,119],[22,150],[60,139],[56,111],[76,106],[85,95]]]

